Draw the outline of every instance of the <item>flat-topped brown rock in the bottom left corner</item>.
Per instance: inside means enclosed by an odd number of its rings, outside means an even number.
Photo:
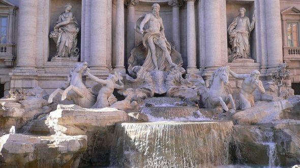
[[[0,137],[0,167],[77,167],[86,138],[4,135]]]

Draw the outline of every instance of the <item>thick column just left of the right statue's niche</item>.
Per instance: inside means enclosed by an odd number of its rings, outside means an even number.
[[[204,1],[205,19],[205,73],[208,75],[218,66],[221,66],[221,29],[220,29],[220,2],[219,0]],[[226,56],[227,57],[227,56]]]

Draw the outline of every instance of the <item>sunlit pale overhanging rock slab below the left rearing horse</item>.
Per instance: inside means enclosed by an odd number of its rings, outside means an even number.
[[[77,105],[57,105],[50,112],[47,124],[56,133],[65,135],[86,135],[99,127],[114,125],[127,120],[127,113],[116,108],[87,109]]]

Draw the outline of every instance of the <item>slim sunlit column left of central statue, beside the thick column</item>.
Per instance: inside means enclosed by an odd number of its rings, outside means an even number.
[[[124,67],[124,0],[116,0],[116,28],[115,28],[115,50],[116,58],[113,70],[126,73]]]

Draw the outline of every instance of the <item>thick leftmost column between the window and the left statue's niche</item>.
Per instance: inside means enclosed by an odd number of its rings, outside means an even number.
[[[18,69],[36,68],[38,0],[23,0],[19,5]]]

